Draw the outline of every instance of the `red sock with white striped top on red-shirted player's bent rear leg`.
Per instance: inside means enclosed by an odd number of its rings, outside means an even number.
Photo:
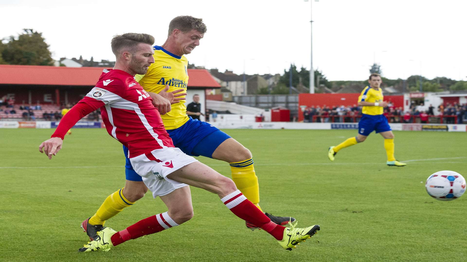
[[[167,212],[165,212],[136,222],[128,228],[113,234],[110,240],[112,241],[113,246],[116,246],[130,239],[136,239],[143,235],[161,232],[164,229],[175,226],[178,226],[178,224],[170,218]]]

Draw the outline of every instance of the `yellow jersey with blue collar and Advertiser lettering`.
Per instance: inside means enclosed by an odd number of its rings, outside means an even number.
[[[154,63],[149,66],[145,75],[136,75],[136,81],[147,92],[159,93],[169,85],[171,92],[184,89],[188,85],[188,60],[186,57],[175,55],[160,46],[154,46]],[[186,115],[185,100],[172,104],[170,112],[161,115],[167,130],[176,129],[190,118]]]

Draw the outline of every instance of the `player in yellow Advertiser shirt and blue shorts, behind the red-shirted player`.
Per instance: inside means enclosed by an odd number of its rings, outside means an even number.
[[[136,75],[135,79],[142,85],[155,101],[161,101],[161,96],[169,98],[166,104],[160,106],[155,104],[161,113],[165,129],[172,138],[174,145],[184,153],[191,156],[205,156],[212,159],[219,159],[229,163],[232,180],[243,195],[256,207],[259,206],[259,185],[258,177],[253,167],[251,152],[231,138],[226,133],[203,121],[193,120],[186,114],[184,96],[179,96],[185,91],[188,83],[188,60],[184,55],[190,54],[199,45],[199,40],[203,38],[206,26],[202,19],[192,16],[177,16],[169,24],[169,34],[162,46],[154,46],[155,62],[149,66],[145,75]],[[171,100],[178,99],[170,107]],[[178,102],[178,103],[177,103]],[[173,102],[172,102],[173,103]],[[163,110],[163,111],[161,111]],[[164,114],[165,113],[165,114]],[[120,213],[125,207],[134,204],[141,199],[148,191],[142,182],[141,176],[134,172],[128,159],[128,149],[123,146],[127,157],[126,183],[125,187],[109,195],[104,203],[99,207],[96,214],[81,223],[81,227],[92,240],[93,236],[103,228],[106,220]],[[166,195],[160,195],[164,203],[171,195],[190,195],[189,187],[174,188],[167,191]],[[179,196],[179,195],[178,195]],[[173,207],[171,218],[183,218],[189,216],[182,208]],[[295,218],[278,217],[265,213],[271,221],[279,225],[285,225]],[[256,225],[246,222],[247,228],[258,229]]]

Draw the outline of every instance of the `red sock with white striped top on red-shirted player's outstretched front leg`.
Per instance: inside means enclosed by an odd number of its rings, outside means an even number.
[[[277,240],[282,240],[285,228],[271,221],[269,217],[262,213],[258,207],[253,205],[240,190],[226,195],[221,200],[236,216],[262,228]]]

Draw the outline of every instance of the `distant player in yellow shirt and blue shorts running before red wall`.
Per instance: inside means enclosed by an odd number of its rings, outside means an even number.
[[[383,108],[388,103],[383,101],[382,90],[380,88],[382,83],[381,76],[379,74],[371,74],[368,83],[369,85],[361,91],[358,97],[358,105],[362,106],[362,116],[358,122],[358,135],[347,138],[346,141],[339,145],[329,147],[327,156],[329,160],[334,161],[334,156],[342,148],[361,143],[367,139],[371,132],[376,131],[376,133],[380,133],[384,138],[384,149],[386,149],[388,156],[386,164],[390,166],[407,165],[394,158],[394,134],[388,124],[388,119],[382,114]]]

